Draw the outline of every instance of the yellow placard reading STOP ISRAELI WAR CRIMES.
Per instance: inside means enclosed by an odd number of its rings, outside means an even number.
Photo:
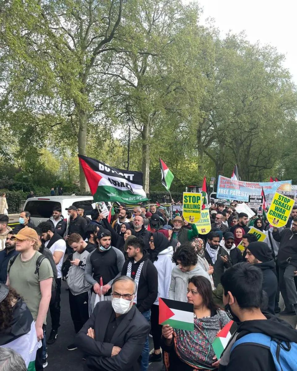
[[[274,227],[285,226],[290,217],[293,206],[294,200],[275,192],[267,213],[269,223]]]

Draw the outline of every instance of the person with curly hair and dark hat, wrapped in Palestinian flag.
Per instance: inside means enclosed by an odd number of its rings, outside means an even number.
[[[18,352],[26,367],[33,370],[36,351],[41,346],[41,341],[37,340],[32,314],[23,299],[14,289],[0,283],[0,347]],[[40,368],[42,369],[41,362],[36,364],[36,370]]]

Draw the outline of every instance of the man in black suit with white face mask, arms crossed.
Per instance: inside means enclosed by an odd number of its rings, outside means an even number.
[[[133,305],[137,287],[132,278],[120,276],[111,288],[112,301],[97,303],[75,344],[85,354],[85,371],[138,371],[150,325]]]

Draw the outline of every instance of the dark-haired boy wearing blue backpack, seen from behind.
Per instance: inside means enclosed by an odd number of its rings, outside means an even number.
[[[261,270],[238,263],[221,277],[223,303],[237,322],[219,360],[219,371],[296,370],[297,331],[260,306],[264,297]]]

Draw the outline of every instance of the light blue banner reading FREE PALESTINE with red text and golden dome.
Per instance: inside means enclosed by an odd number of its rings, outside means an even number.
[[[250,195],[261,195],[263,187],[266,202],[271,203],[275,192],[291,191],[291,183],[291,180],[260,183],[244,182],[241,180],[232,180],[230,178],[222,177],[221,175],[219,175],[216,197],[248,202],[248,197]]]

